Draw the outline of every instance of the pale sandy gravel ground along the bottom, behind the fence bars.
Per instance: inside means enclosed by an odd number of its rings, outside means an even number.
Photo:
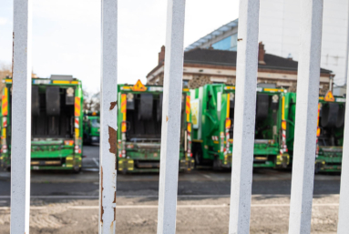
[[[338,195],[313,198],[312,233],[336,232],[338,202]],[[229,197],[180,196],[177,233],[228,233],[229,203]],[[252,196],[251,233],[287,233],[289,203],[289,196]],[[157,197],[119,197],[117,233],[156,233],[157,204]],[[8,205],[0,203],[0,234],[9,233]],[[30,233],[98,233],[98,200],[33,199]]]

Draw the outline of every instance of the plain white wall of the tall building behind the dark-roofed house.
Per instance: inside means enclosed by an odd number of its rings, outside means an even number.
[[[323,0],[321,66],[344,84],[348,52],[349,0]],[[260,38],[266,53],[298,60],[301,0],[261,0]]]

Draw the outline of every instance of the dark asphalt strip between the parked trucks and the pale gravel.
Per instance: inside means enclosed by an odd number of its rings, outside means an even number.
[[[44,179],[39,182],[31,183],[31,195],[32,196],[98,196],[98,172],[89,172],[97,174],[96,181],[84,181],[84,173],[81,175],[81,181],[55,181]],[[282,173],[282,172],[280,172]],[[283,172],[285,173],[285,172]],[[193,177],[200,177],[202,175],[210,175],[211,172],[195,172],[192,173]],[[229,173],[226,173],[228,176]],[[42,174],[32,175],[32,178],[40,177]],[[179,181],[178,194],[179,195],[230,195],[231,193],[231,180],[225,178],[223,175],[219,177],[221,180],[215,180],[215,178],[208,178],[198,181],[183,180]],[[44,174],[44,176],[46,176]],[[58,176],[58,175],[57,175]],[[149,179],[141,179],[140,181],[134,181],[135,178],[132,175],[118,176],[118,195],[122,196],[156,196],[159,190],[159,177],[157,175],[146,175]],[[313,193],[315,195],[322,194],[339,194],[340,180],[331,176],[328,180],[314,181]],[[257,176],[258,178],[258,176]],[[0,196],[10,195],[10,181],[8,179],[0,180]],[[291,179],[266,179],[266,180],[254,180],[252,182],[252,194],[262,195],[274,195],[291,194]]]

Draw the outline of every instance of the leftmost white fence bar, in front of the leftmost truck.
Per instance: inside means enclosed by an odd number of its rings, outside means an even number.
[[[32,107],[31,0],[14,0],[11,233],[29,233]]]

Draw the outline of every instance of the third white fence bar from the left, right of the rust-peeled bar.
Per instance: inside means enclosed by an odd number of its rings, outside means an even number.
[[[158,234],[176,232],[185,0],[168,0]]]

